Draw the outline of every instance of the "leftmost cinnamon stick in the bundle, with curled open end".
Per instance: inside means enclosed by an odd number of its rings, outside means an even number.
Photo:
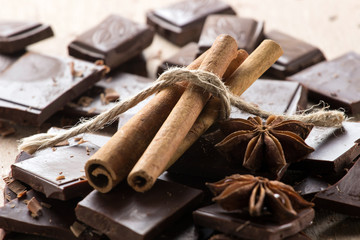
[[[197,69],[206,54],[187,69]],[[85,173],[92,187],[103,193],[109,192],[128,175],[184,89],[179,84],[160,91],[87,161]]]

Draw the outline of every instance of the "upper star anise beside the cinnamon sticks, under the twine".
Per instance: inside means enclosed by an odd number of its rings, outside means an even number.
[[[230,119],[220,124],[227,136],[215,147],[247,169],[277,173],[287,162],[314,151],[304,141],[312,127],[312,124],[279,116],[270,116],[265,123],[260,117]]]

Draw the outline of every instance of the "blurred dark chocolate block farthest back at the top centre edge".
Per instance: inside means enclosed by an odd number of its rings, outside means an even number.
[[[197,42],[205,19],[210,14],[235,14],[226,3],[218,0],[186,0],[146,13],[147,24],[170,42],[184,46]]]

